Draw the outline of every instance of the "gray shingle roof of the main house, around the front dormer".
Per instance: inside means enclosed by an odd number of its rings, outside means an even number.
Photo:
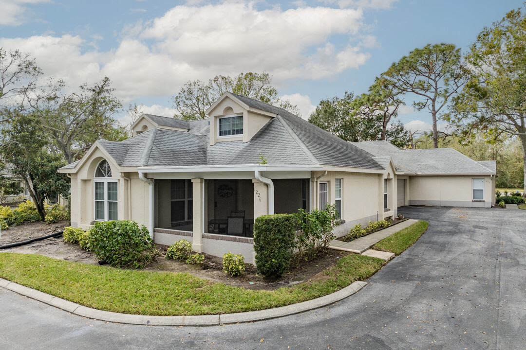
[[[233,94],[234,95],[234,94]],[[369,153],[268,103],[234,95],[250,107],[276,114],[249,142],[209,145],[209,120],[181,121],[147,114],[157,124],[188,132],[151,129],[122,142],[99,140],[121,166],[191,166],[257,164],[334,165],[383,169]]]

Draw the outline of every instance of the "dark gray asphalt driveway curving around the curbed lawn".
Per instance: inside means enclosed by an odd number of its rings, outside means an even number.
[[[526,210],[404,207],[419,241],[323,309],[248,324],[84,319],[0,290],[2,349],[525,349]]]

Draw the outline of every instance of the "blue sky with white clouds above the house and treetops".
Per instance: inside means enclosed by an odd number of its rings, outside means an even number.
[[[28,52],[71,90],[108,76],[125,105],[143,104],[145,112],[161,115],[173,113],[170,97],[188,80],[265,70],[306,117],[323,98],[366,92],[414,48],[452,43],[466,50],[484,26],[520,6],[511,0],[0,0],[0,46]],[[413,130],[430,122],[426,111],[402,112],[398,119]]]

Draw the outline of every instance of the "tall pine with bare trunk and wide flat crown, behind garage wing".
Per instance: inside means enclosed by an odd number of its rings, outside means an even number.
[[[418,110],[427,107],[431,113],[433,147],[438,148],[438,114],[467,80],[460,49],[453,44],[428,44],[393,63],[382,76],[394,81],[400,91],[423,99],[413,106]]]

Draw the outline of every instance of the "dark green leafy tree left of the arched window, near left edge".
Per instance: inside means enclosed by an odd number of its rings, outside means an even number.
[[[17,113],[8,128],[1,131],[0,146],[1,160],[11,164],[12,174],[25,183],[42,219],[46,217],[44,200],[57,194],[67,196],[69,192],[66,174],[57,173],[65,162],[46,149],[46,134],[34,114]]]

